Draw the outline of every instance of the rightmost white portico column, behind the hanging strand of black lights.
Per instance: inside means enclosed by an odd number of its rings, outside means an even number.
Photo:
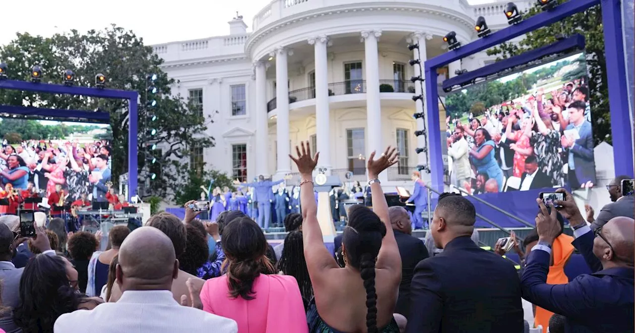
[[[429,41],[432,39],[432,35],[431,34],[425,34],[424,32],[414,32],[413,34],[410,35],[410,39],[411,42],[413,44],[418,44],[419,45],[419,49],[413,49],[413,59],[414,60],[419,60],[420,64],[419,65],[415,65],[415,67],[413,67],[413,69],[415,70],[415,76],[421,75],[422,79],[425,79],[425,72],[424,72],[424,63],[425,60],[427,59],[426,56],[426,48],[425,48],[425,41]],[[426,108],[425,108],[425,93],[423,93],[423,89],[422,89],[422,85],[423,82],[415,82],[415,95],[422,95],[423,98],[420,101],[416,101],[415,102],[415,112],[419,113],[424,113],[427,112]],[[427,113],[425,114],[427,116]],[[425,124],[424,124],[424,119],[423,118],[418,118],[417,119],[417,131],[421,131],[422,129],[424,129]],[[427,133],[425,133],[425,135],[427,135]],[[425,145],[425,137],[423,135],[417,136],[417,148],[424,148]],[[425,147],[427,148],[427,147]],[[425,158],[426,153],[418,153],[417,154],[417,165],[418,166],[422,166],[424,164],[427,164],[428,161]]]

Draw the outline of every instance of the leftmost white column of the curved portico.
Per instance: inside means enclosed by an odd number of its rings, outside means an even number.
[[[256,72],[256,174],[269,174],[267,143],[269,136],[269,117],[267,116],[267,65],[260,61],[253,63]]]

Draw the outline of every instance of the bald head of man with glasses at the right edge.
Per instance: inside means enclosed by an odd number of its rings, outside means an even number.
[[[632,267],[635,251],[635,220],[625,216],[612,218],[602,227],[601,233],[615,251],[612,260],[622,261]]]

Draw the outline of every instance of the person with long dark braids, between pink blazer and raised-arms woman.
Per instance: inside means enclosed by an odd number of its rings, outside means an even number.
[[[292,231],[284,238],[284,249],[277,264],[277,270],[284,275],[291,275],[298,282],[300,294],[304,302],[304,308],[309,306],[313,298],[313,286],[307,270],[307,261],[304,258],[304,244],[302,232]],[[274,248],[275,249],[275,248]]]

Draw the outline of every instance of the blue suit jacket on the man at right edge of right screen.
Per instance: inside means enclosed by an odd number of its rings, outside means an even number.
[[[566,126],[566,129],[573,129],[573,124]],[[580,138],[575,140],[575,145],[569,150],[573,153],[573,163],[575,164],[575,176],[580,184],[587,181],[596,183],[595,161],[593,159],[593,133],[591,123],[585,121],[580,127]]]

